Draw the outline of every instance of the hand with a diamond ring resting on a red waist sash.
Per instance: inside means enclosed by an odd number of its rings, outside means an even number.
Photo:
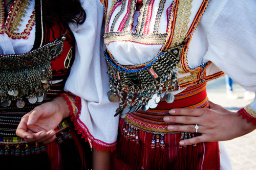
[[[171,116],[165,116],[165,122],[184,124],[169,125],[169,131],[195,133],[195,125],[199,126],[198,133],[201,135],[181,140],[181,145],[231,140],[256,128],[252,123],[247,123],[246,119],[238,116],[238,113],[231,112],[212,102],[209,102],[209,109],[182,108],[172,109],[169,113]]]

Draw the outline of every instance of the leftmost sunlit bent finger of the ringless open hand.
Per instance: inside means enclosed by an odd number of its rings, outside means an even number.
[[[33,139],[33,135],[27,132],[28,117],[29,117],[29,114],[26,114],[22,117],[16,129],[16,135],[24,139]]]

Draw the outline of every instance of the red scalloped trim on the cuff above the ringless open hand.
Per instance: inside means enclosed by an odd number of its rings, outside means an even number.
[[[93,135],[89,132],[86,125],[84,125],[81,122],[79,118],[79,115],[81,113],[81,98],[79,96],[75,96],[71,93],[63,93],[63,94],[60,94],[60,96],[62,96],[63,99],[67,101],[67,105],[69,105],[70,116],[75,126],[75,130],[77,131],[78,134],[81,134],[81,137],[84,138],[86,142],[90,143],[92,149],[96,148],[97,151],[101,151],[101,152],[116,151],[116,148],[117,148],[116,142],[105,143],[103,141],[94,139]]]

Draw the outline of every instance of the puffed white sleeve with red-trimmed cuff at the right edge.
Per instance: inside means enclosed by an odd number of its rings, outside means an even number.
[[[256,89],[256,1],[211,1],[202,17],[211,61],[249,91]],[[255,91],[256,92],[256,91]],[[256,100],[239,111],[256,125]]]

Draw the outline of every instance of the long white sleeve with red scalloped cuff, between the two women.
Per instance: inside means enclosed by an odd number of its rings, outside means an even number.
[[[119,121],[114,114],[118,103],[109,102],[106,95],[109,82],[103,57],[104,9],[99,0],[80,2],[86,11],[86,21],[79,26],[70,25],[76,39],[75,60],[65,90],[73,94],[67,97],[73,99],[69,100],[70,107],[76,107],[72,119],[78,133],[93,148],[114,151]]]

